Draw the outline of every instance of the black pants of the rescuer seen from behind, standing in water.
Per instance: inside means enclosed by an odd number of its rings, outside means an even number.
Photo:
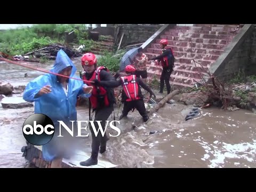
[[[143,119],[147,119],[148,115],[147,115],[144,101],[142,99],[135,100],[135,101],[125,101],[123,112],[122,112],[123,116],[127,116],[129,111],[132,110],[133,108],[139,111]]]

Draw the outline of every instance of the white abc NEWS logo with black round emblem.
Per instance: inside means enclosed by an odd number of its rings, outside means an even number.
[[[72,127],[70,129],[70,127],[68,127],[65,123],[63,123],[62,121],[58,121],[59,122],[59,129],[60,129],[60,135],[58,135],[58,137],[63,137],[61,135],[61,127],[63,127],[64,129],[66,129],[68,131],[68,133],[74,137],[74,122],[77,122],[77,129],[78,129],[78,134],[75,137],[88,137],[89,134],[87,135],[82,135],[81,130],[82,129],[87,129],[86,127],[82,127],[82,122],[85,122],[88,124],[87,121],[70,121],[72,122]],[[92,130],[95,134],[95,137],[97,137],[97,135],[99,134],[99,132],[101,132],[102,137],[104,136],[106,129],[102,129],[101,126],[101,121],[96,121],[98,123],[98,127],[99,129],[96,129],[95,125],[94,125],[94,121],[90,121]],[[113,122],[118,122],[119,121],[111,121],[109,126],[111,129],[117,131],[117,135],[111,135],[109,133],[110,137],[117,137],[118,135],[120,135],[121,131],[118,129],[118,127],[113,125]],[[109,121],[106,121],[106,127],[108,126]],[[26,121],[23,123],[23,135],[25,137],[25,139],[31,143],[32,145],[35,146],[41,146],[41,145],[45,145],[48,142],[50,142],[54,136],[54,124],[52,122],[52,119],[44,114],[33,114],[30,115]]]

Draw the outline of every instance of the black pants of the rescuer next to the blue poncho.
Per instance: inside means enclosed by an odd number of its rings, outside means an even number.
[[[96,121],[101,121],[102,130],[105,130],[105,125],[108,117],[111,115],[114,107],[104,107],[99,110],[95,110],[95,118],[94,118],[94,125],[95,130],[99,130],[99,125]],[[91,134],[92,134],[92,156],[98,157],[100,146],[106,145],[107,142],[107,132],[105,132],[104,137],[102,137],[101,131],[99,130],[97,137],[94,134],[92,126],[90,126]]]

